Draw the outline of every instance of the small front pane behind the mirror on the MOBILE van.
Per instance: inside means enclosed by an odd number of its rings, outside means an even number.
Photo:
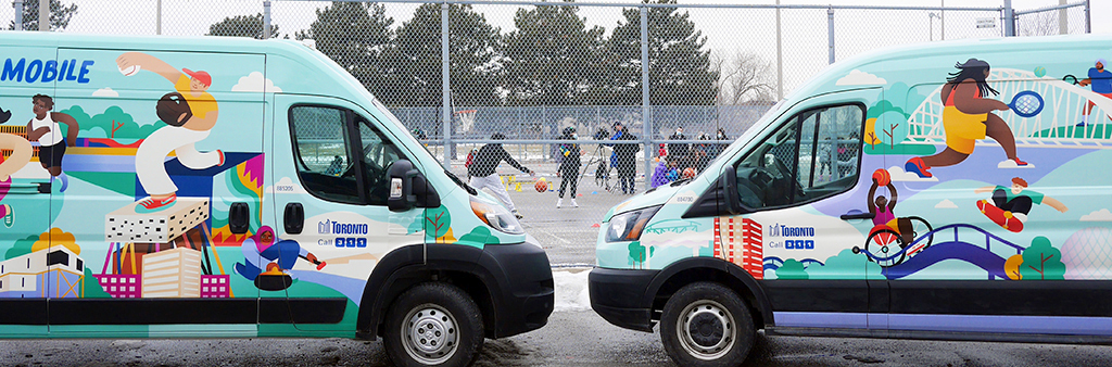
[[[405,156],[398,147],[386,139],[370,121],[359,117],[356,119],[363,147],[363,165],[367,185],[367,198],[370,205],[386,205],[389,197],[389,169],[398,159]]]

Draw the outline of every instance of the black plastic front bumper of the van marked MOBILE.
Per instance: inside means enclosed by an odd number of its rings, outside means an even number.
[[[548,324],[556,304],[552,266],[537,245],[486,246],[479,265],[490,272],[502,272],[500,301],[495,316],[494,337],[504,338],[539,329]]]

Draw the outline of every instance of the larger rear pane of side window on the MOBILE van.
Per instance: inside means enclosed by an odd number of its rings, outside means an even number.
[[[351,157],[347,111],[319,106],[290,108],[297,173],[310,194],[361,204]]]

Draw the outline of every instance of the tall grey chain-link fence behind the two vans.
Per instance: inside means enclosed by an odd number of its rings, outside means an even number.
[[[633,190],[631,178],[643,190],[658,169],[672,172],[669,179],[697,171],[774,101],[831,62],[886,46],[1082,33],[1090,27],[1089,1],[1029,11],[674,0],[49,1],[54,31],[311,43],[458,175],[469,170],[469,153],[500,143],[536,173],[514,175],[516,168],[502,163],[494,170],[504,175],[500,187],[530,218],[527,224],[540,228],[538,237],[548,222],[559,234],[553,241],[567,244],[562,228],[597,220],[620,201],[615,194],[623,192],[623,181],[625,191]],[[36,30],[38,19],[39,0],[0,8],[9,29]],[[566,133],[569,128],[575,136]],[[495,133],[505,139],[493,140]],[[673,159],[658,162],[662,156]],[[578,172],[576,195],[593,198],[577,204],[597,206],[598,212],[559,218],[549,210],[570,166]],[[528,194],[539,178],[556,184],[543,190],[547,196]],[[596,232],[586,228],[572,237],[592,244]],[[592,257],[586,247],[564,262]]]

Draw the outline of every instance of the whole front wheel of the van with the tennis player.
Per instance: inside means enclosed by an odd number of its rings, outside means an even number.
[[[689,284],[664,305],[661,341],[676,365],[741,366],[755,338],[748,306],[719,284]]]

